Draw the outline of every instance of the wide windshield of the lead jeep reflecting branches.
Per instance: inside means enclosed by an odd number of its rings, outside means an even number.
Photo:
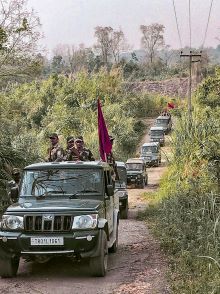
[[[103,176],[94,169],[26,170],[24,172],[21,197],[62,197],[73,195],[101,194]]]

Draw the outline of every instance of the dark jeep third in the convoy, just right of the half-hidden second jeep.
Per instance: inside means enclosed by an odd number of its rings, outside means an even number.
[[[134,184],[135,187],[144,189],[148,184],[148,174],[146,171],[146,164],[142,158],[130,158],[126,161],[127,169],[127,184]]]

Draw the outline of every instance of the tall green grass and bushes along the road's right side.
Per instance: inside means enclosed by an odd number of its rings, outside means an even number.
[[[220,292],[220,71],[198,87],[192,122],[183,111],[172,161],[144,217],[169,254],[174,293]],[[143,217],[143,216],[142,216]]]

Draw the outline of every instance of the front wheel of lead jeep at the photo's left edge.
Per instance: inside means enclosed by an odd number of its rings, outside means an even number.
[[[2,278],[15,277],[19,266],[19,257],[7,258],[0,260],[0,276]]]

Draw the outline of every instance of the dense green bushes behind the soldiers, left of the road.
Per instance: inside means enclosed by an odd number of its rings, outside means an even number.
[[[83,135],[98,159],[98,96],[109,132],[116,138],[114,153],[118,160],[135,153],[145,128],[143,118],[159,112],[166,103],[162,97],[128,93],[120,69],[96,74],[81,71],[74,77],[53,75],[12,87],[0,93],[0,169],[4,173],[0,178],[10,178],[10,165],[22,168],[43,161],[51,132],[59,134],[64,148],[67,136]]]

